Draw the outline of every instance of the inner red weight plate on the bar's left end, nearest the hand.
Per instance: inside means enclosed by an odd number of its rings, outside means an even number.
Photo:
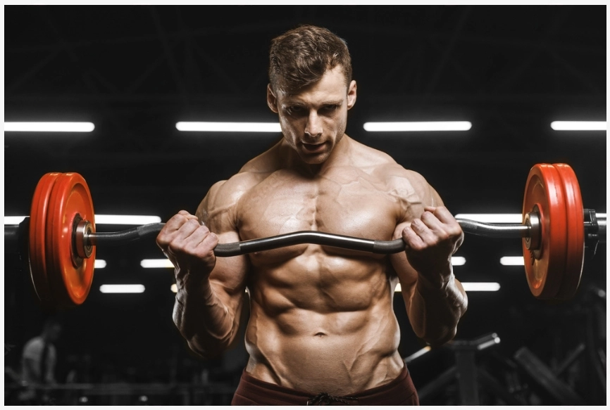
[[[61,307],[85,302],[93,281],[95,247],[87,259],[75,254],[73,228],[80,217],[95,229],[93,203],[85,179],[73,172],[61,174],[49,198],[46,224],[46,269],[49,285]]]

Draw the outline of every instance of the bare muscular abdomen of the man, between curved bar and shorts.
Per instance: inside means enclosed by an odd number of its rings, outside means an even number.
[[[382,261],[317,253],[253,272],[247,373],[313,394],[389,383],[404,364]]]

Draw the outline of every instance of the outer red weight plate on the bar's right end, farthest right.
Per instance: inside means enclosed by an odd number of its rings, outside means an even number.
[[[568,227],[564,280],[554,298],[557,300],[568,300],[578,290],[580,276],[583,274],[583,263],[585,262],[585,217],[583,198],[580,196],[580,186],[573,169],[567,164],[554,164],[554,167],[559,172],[562,182],[561,186],[564,188],[566,225]]]

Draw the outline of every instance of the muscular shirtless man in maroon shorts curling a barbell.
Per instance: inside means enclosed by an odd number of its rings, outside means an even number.
[[[419,338],[451,340],[467,305],[451,264],[459,224],[421,175],[344,134],[356,82],[335,34],[301,26],[273,40],[267,103],[282,141],[159,233],[175,266],[176,326],[194,352],[219,354],[248,290],[249,361],[232,404],[418,404],[397,351],[394,287]],[[219,242],[309,230],[402,237],[406,250],[304,244],[214,256]]]

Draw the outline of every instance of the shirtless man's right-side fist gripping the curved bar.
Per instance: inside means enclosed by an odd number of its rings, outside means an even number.
[[[402,231],[411,267],[440,288],[452,274],[451,257],[463,242],[463,231],[446,207],[425,207]]]

